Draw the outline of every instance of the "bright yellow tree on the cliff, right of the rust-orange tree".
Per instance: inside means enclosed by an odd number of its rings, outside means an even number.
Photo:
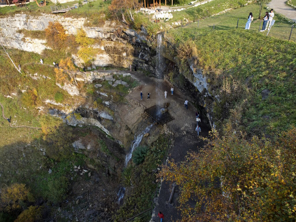
[[[78,56],[83,60],[83,62],[87,63],[93,58],[93,48],[91,47],[94,44],[94,40],[92,38],[88,38],[83,29],[78,31],[75,41],[79,44],[80,49],[78,50]]]

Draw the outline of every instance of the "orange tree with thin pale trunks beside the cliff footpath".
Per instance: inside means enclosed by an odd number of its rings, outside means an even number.
[[[56,81],[58,83],[68,82],[73,86],[77,86],[76,70],[71,58],[61,59],[59,68],[55,68]]]

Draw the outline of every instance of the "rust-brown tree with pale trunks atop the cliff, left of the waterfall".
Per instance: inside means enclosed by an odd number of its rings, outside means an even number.
[[[138,0],[112,0],[111,5],[109,6],[109,10],[115,13],[116,16],[117,14],[120,14],[120,16],[122,17],[121,21],[125,24],[128,24],[125,16],[128,16],[128,18],[133,22],[134,18],[131,10],[139,9],[140,7],[141,3]]]

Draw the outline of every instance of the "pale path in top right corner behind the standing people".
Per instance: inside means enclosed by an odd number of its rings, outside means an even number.
[[[267,4],[270,9],[274,9],[276,13],[282,14],[288,19],[296,22],[296,10],[289,7],[285,2],[287,0],[271,0]]]

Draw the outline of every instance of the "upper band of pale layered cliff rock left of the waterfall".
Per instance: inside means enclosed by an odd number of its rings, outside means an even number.
[[[89,38],[99,39],[99,43],[92,47],[96,52],[93,66],[126,67],[130,64],[155,73],[152,65],[150,48],[147,45],[145,32],[137,33],[134,30],[124,29],[123,26],[113,21],[106,21],[101,27],[85,26],[86,18],[72,18],[61,15],[41,14],[15,14],[14,16],[2,17],[0,20],[0,36],[8,47],[28,52],[41,54],[46,46],[46,40],[24,37],[19,30],[44,30],[49,22],[59,22],[65,28],[66,33],[75,35],[83,29]],[[123,31],[118,34],[118,28]],[[153,55],[152,55],[153,56]],[[82,61],[76,55],[72,55],[75,65],[82,67]]]

